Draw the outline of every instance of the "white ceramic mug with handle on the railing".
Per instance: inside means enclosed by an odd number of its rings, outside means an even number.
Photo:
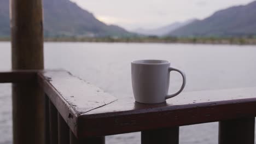
[[[138,103],[164,103],[166,99],[181,93],[186,84],[185,74],[171,68],[170,62],[162,60],[139,60],[131,63],[132,88]],[[177,71],[182,75],[181,89],[174,94],[167,94],[170,82],[170,72]]]

